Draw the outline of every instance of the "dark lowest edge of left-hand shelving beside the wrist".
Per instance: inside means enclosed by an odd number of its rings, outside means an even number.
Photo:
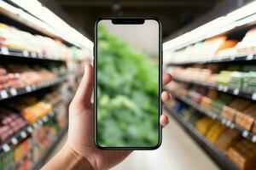
[[[61,138],[64,136],[64,134],[67,132],[67,127],[64,127],[61,129],[60,133],[56,136],[55,140],[52,142],[52,144],[49,145],[49,147],[44,150],[44,154],[40,157],[40,159],[32,166],[31,170],[37,170],[44,166],[45,161],[47,160],[49,154],[52,152],[52,150],[55,148],[56,144],[58,144],[61,140]]]

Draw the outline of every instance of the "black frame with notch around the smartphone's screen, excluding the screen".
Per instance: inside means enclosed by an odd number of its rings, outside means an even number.
[[[160,121],[158,121],[159,124],[159,140],[158,143],[154,146],[139,146],[139,147],[119,147],[119,146],[101,146],[100,144],[97,143],[97,26],[99,21],[101,20],[120,20],[124,21],[125,20],[155,20],[158,22],[159,25],[159,120],[160,116],[162,114],[162,101],[161,101],[161,92],[162,92],[162,28],[161,28],[161,23],[160,20],[154,17],[102,17],[96,20],[95,24],[95,45],[94,45],[94,59],[93,59],[93,65],[94,65],[94,143],[96,144],[96,147],[101,150],[155,150],[160,147],[160,144],[162,142],[162,127],[160,125]],[[129,24],[127,22],[126,24]]]

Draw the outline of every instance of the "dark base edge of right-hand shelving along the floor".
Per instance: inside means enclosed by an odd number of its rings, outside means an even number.
[[[183,127],[186,133],[189,134],[189,136],[195,140],[195,142],[201,147],[202,150],[204,150],[208,156],[212,158],[213,161],[215,161],[218,164],[218,167],[221,169],[227,169],[227,170],[236,170],[238,167],[230,161],[230,159],[227,156],[224,156],[224,154],[218,150],[213,144],[211,144],[207,139],[205,139],[204,136],[201,135],[201,133],[198,133],[197,130],[195,130],[195,127],[193,127],[190,123],[184,122],[183,119],[180,116],[177,116],[177,113],[173,112],[171,108],[166,106],[166,111]]]

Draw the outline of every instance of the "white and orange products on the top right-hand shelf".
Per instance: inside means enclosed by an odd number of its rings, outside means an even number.
[[[166,51],[166,63],[207,61],[232,58],[242,54],[255,54],[255,40],[256,28],[247,31],[241,42],[226,36],[211,37],[177,51]]]

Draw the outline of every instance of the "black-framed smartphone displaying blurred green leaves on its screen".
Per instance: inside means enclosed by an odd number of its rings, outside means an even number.
[[[95,26],[95,144],[154,150],[161,144],[162,40],[154,18],[102,18]]]

